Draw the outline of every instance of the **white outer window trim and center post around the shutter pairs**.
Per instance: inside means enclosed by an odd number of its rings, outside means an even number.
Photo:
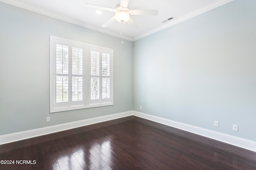
[[[55,56],[54,56],[54,41],[63,41],[69,44],[75,44],[75,46],[83,47],[83,100],[84,104],[80,106],[69,106],[69,107],[58,107],[54,108],[54,95],[55,95]],[[110,99],[106,102],[104,100],[100,100],[102,103],[90,104],[90,49],[98,49],[99,51],[107,51],[110,53]],[[75,109],[85,109],[90,107],[100,107],[100,106],[110,106],[113,105],[113,49],[109,49],[106,47],[100,47],[96,45],[91,45],[87,43],[82,43],[70,39],[65,39],[61,37],[56,37],[50,35],[50,113],[59,112],[59,111],[69,111]]]

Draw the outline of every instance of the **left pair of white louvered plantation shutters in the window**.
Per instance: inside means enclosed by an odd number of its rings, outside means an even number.
[[[54,41],[54,62],[54,108],[83,105],[83,47]]]

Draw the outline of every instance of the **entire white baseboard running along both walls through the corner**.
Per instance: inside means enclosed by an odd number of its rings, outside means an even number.
[[[232,135],[227,135],[227,134],[224,134],[224,133],[211,131],[211,130],[208,130],[208,129],[188,125],[188,124],[185,124],[185,123],[180,123],[180,122],[177,122],[177,121],[172,121],[170,119],[164,119],[164,118],[161,118],[161,117],[141,113],[141,112],[138,112],[138,111],[126,111],[126,112],[122,112],[122,113],[116,113],[116,114],[112,114],[112,115],[106,115],[106,116],[95,117],[95,118],[91,118],[91,119],[74,121],[74,122],[64,123],[64,124],[60,124],[60,125],[43,127],[43,128],[39,128],[39,129],[32,129],[32,130],[29,130],[29,131],[22,131],[22,132],[18,132],[18,133],[11,133],[11,134],[7,134],[7,135],[1,135],[0,136],[0,145],[5,144],[5,143],[20,141],[20,140],[24,140],[24,139],[29,139],[29,138],[32,138],[32,137],[47,135],[47,134],[50,134],[50,133],[55,133],[55,132],[64,131],[64,130],[68,130],[68,129],[73,129],[73,128],[76,128],[76,127],[91,125],[91,124],[94,124],[94,123],[100,123],[100,122],[104,122],[104,121],[118,119],[118,118],[121,118],[121,117],[127,117],[127,116],[131,116],[131,115],[141,117],[143,119],[148,119],[148,120],[151,120],[151,121],[154,121],[154,122],[157,122],[157,123],[161,123],[161,124],[164,124],[164,125],[168,125],[168,126],[171,126],[171,127],[175,127],[175,128],[178,128],[178,129],[182,129],[184,131],[195,133],[197,135],[208,137],[210,139],[215,139],[217,141],[221,141],[221,142],[224,142],[224,143],[228,143],[230,145],[234,145],[234,146],[237,146],[237,147],[241,147],[241,148],[252,150],[252,151],[256,152],[256,142],[255,141],[250,141],[250,140],[235,137],[235,136],[232,136]]]

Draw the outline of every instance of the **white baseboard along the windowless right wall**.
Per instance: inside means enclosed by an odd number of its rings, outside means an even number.
[[[240,148],[244,148],[244,149],[248,149],[248,150],[252,150],[254,152],[256,152],[256,142],[255,141],[250,141],[247,139],[243,139],[240,137],[235,137],[232,135],[227,135],[224,133],[219,133],[216,131],[211,131],[208,129],[204,129],[204,128],[200,128],[200,127],[196,127],[196,126],[192,126],[192,125],[188,125],[185,123],[180,123],[177,121],[172,121],[170,119],[164,119],[161,117],[157,117],[157,116],[153,116],[153,115],[148,115],[145,113],[141,113],[138,111],[133,111],[133,115],[137,116],[137,117],[141,117],[143,119],[148,119],[157,123],[161,123],[164,125],[168,125],[171,127],[175,127],[184,131],[188,131],[191,133],[195,133],[197,135],[201,135],[204,137],[208,137],[210,139],[215,139],[217,141],[221,141],[224,143],[228,143],[230,145],[234,145]]]

